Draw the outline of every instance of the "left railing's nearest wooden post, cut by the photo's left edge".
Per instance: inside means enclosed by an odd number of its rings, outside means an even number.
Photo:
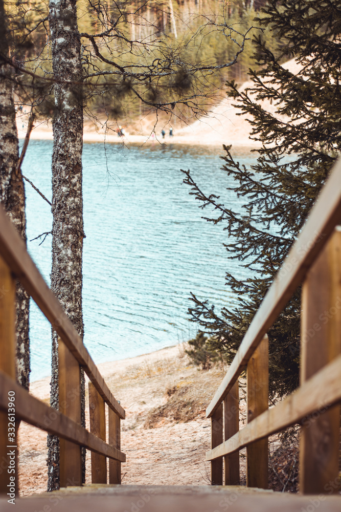
[[[0,370],[13,380],[16,377],[15,351],[15,280],[8,265],[0,257]],[[9,400],[9,403],[12,401]],[[15,410],[15,406],[10,409]],[[15,414],[10,412],[0,412],[0,494],[10,493],[14,498],[14,494],[18,494],[17,424],[11,421],[15,419]],[[14,472],[8,473],[8,468],[12,471],[13,467]],[[7,498],[11,499],[12,496]]]

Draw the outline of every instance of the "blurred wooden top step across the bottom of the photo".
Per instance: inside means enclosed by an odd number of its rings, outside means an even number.
[[[243,486],[85,485],[0,499],[1,512],[339,512],[340,496],[299,496]]]

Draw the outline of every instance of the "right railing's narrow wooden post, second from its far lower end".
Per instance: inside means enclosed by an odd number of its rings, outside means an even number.
[[[239,431],[239,381],[224,398],[224,440]],[[224,457],[225,485],[239,485],[239,450]]]

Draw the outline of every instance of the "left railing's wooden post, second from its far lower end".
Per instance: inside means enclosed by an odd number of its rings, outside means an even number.
[[[105,441],[105,403],[92,382],[89,382],[89,412],[90,432]],[[107,483],[106,457],[94,452],[91,452],[91,481]]]

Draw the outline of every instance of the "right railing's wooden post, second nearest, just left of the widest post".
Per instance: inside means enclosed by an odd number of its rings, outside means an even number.
[[[247,363],[247,423],[268,409],[269,342],[265,335]],[[268,487],[268,438],[246,447],[248,487]]]

